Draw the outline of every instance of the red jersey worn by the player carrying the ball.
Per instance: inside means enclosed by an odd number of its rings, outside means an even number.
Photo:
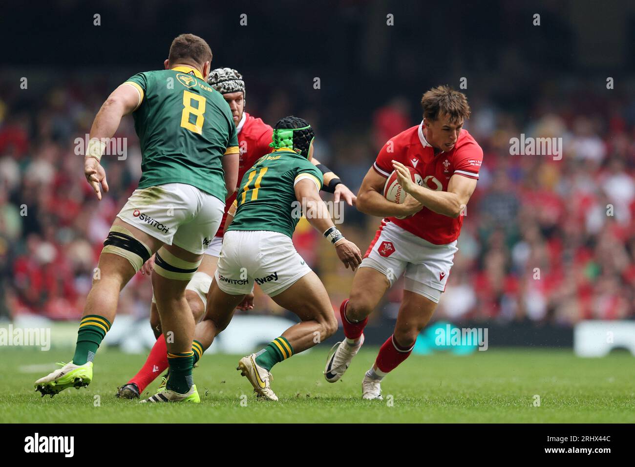
[[[394,159],[405,166],[415,168],[424,179],[424,186],[432,190],[448,191],[448,182],[452,175],[478,180],[483,162],[483,149],[467,130],[461,130],[451,151],[440,152],[435,156],[434,149],[425,140],[422,125],[423,122],[388,140],[373,163],[375,172],[382,177],[389,177],[394,170]],[[463,216],[454,219],[432,212],[424,206],[408,219],[389,217],[387,221],[394,222],[430,243],[445,245],[457,240]]]

